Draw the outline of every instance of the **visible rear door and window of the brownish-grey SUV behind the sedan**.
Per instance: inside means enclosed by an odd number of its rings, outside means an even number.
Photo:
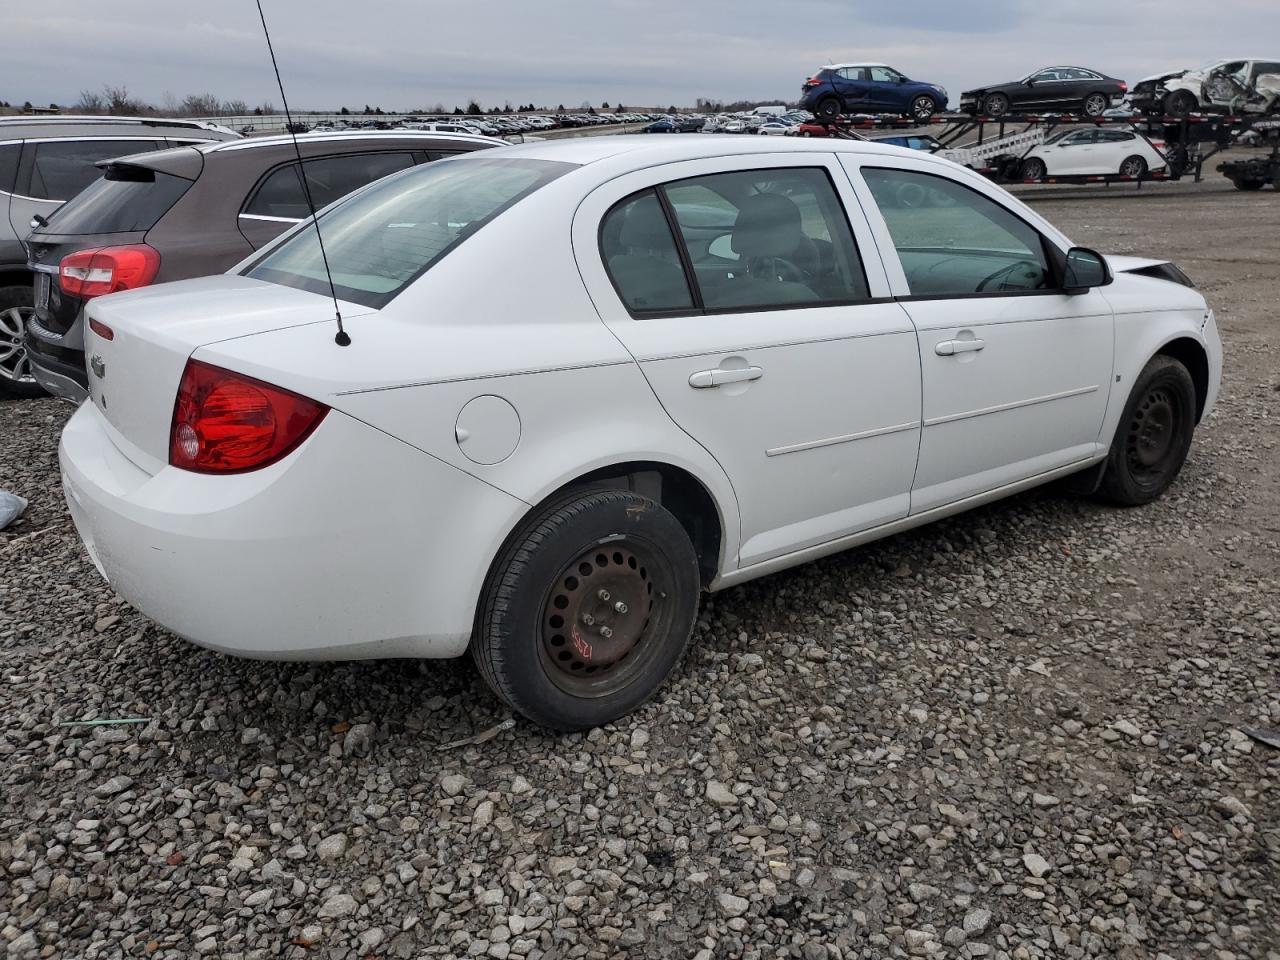
[[[412,166],[413,151],[338,154],[303,160],[307,186],[316,210],[323,210],[353,189]],[[238,216],[241,234],[255,248],[269,243],[308,215],[297,161],[269,172],[250,191]]]

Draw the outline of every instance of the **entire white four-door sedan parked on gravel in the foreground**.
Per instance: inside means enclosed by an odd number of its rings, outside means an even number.
[[[311,224],[92,301],[60,447],[79,534],[197,644],[470,650],[553,728],[658,690],[703,590],[1057,477],[1155,499],[1219,388],[1175,266],[919,151],[541,142],[320,225],[349,346]]]

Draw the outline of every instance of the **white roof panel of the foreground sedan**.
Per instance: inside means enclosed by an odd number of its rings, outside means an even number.
[[[485,151],[488,154],[488,151]],[[643,133],[620,133],[613,137],[575,137],[516,143],[497,151],[502,156],[524,156],[531,160],[558,160],[585,166],[611,157],[627,156],[636,166],[649,166],[681,160],[703,160],[717,156],[750,156],[756,154],[893,154],[901,147],[887,147],[859,140],[820,137],[736,137],[704,133],[698,137],[653,137]],[[449,163],[453,163],[452,160]]]

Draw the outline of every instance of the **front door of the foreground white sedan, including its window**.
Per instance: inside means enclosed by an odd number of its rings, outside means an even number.
[[[922,513],[1105,451],[1112,311],[1057,279],[1065,242],[982,178],[924,160],[846,157],[920,338]],[[876,164],[881,165],[877,166]],[[901,206],[905,187],[925,197]]]

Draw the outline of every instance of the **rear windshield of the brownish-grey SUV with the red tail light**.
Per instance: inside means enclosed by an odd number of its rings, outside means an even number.
[[[113,165],[49,218],[46,233],[150,230],[191,187],[191,180],[142,166]]]

